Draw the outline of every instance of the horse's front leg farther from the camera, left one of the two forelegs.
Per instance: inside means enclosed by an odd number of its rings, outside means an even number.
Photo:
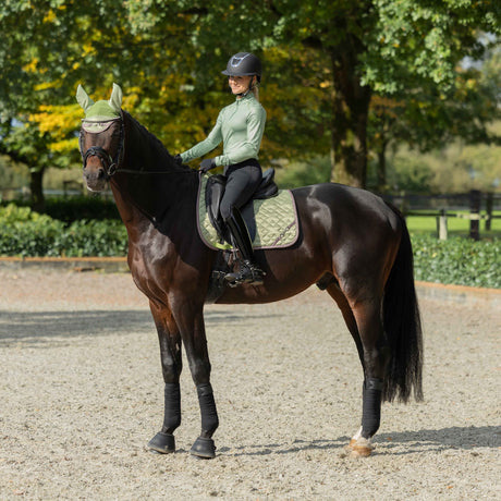
[[[170,309],[150,301],[150,309],[160,343],[160,358],[164,381],[163,425],[148,442],[162,454],[175,451],[174,430],[181,424],[180,375],[182,370],[181,335]]]

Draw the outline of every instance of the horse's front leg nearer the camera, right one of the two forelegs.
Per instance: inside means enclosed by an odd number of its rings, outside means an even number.
[[[178,304],[174,316],[180,326],[190,370],[197,389],[201,417],[200,436],[190,452],[198,457],[212,459],[216,456],[212,435],[219,426],[219,418],[210,384],[210,362],[204,325],[204,306],[203,303],[194,304],[190,300],[179,303],[182,306]]]

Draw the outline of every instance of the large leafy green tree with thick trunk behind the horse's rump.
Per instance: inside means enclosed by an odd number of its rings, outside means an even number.
[[[185,22],[192,44],[187,50],[198,56],[192,71],[205,75],[201,84],[195,78],[197,88],[207,87],[213,63],[222,64],[228,57],[221,47],[227,52],[260,49],[265,59],[271,48],[286,48],[291,56],[302,48],[316,51],[318,66],[331,78],[322,87],[329,109],[318,118],[329,123],[332,180],[358,186],[366,181],[372,97],[418,91],[420,102],[427,101],[426,93],[442,101],[453,98],[459,62],[485,52],[487,47],[478,41],[481,30],[500,32],[498,4],[477,0],[243,0],[236,9],[219,0],[200,9],[190,0],[174,5],[152,0],[127,3],[134,14],[132,26],[145,35],[161,29],[173,15]],[[285,85],[294,87],[290,80]]]

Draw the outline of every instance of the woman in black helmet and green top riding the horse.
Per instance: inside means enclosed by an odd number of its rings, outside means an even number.
[[[260,285],[265,273],[254,261],[253,245],[240,208],[250,199],[262,179],[257,161],[266,122],[266,111],[258,100],[261,62],[252,53],[239,52],[230,58],[222,74],[228,75],[230,88],[236,96],[235,102],[220,111],[207,138],[182,152],[180,158],[188,162],[203,157],[223,142],[223,154],[203,160],[200,171],[206,173],[224,166],[227,187],[220,212],[230,230],[233,245],[243,258],[240,272],[228,273],[225,279],[234,284]]]

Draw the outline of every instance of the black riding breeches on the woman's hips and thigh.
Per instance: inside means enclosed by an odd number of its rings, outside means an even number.
[[[262,171],[259,162],[252,158],[229,166],[224,175],[228,179],[227,187],[219,210],[222,219],[227,220],[233,207],[240,209],[250,199],[262,180]]]

